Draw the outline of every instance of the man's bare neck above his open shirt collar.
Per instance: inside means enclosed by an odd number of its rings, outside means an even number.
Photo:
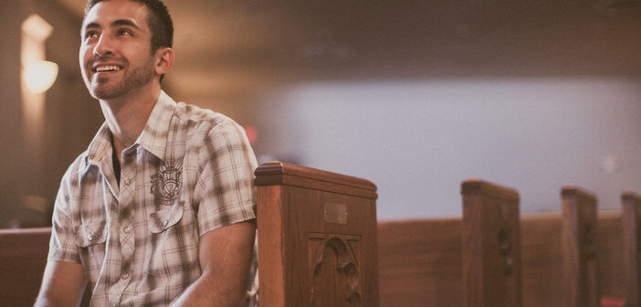
[[[131,147],[141,135],[160,96],[160,84],[152,82],[150,89],[132,90],[122,97],[100,100],[100,108],[113,134],[113,146],[118,159],[124,149]]]

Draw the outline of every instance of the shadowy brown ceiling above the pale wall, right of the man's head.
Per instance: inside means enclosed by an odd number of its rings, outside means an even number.
[[[641,74],[639,0],[165,3],[168,80],[196,100],[308,80]]]

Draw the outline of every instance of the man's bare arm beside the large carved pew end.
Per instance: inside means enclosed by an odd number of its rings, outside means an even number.
[[[172,306],[242,306],[255,234],[255,220],[205,233],[198,251],[203,274]]]

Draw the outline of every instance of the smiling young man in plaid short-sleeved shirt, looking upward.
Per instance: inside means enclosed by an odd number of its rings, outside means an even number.
[[[256,226],[255,156],[221,114],[174,102],[159,0],[89,0],[80,69],[105,123],[63,176],[37,306],[238,306]]]

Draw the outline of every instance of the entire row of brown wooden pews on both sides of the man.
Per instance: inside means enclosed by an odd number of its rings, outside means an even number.
[[[463,217],[376,222],[367,180],[271,162],[256,171],[262,306],[639,306],[641,198],[521,216],[517,191],[472,179]],[[34,302],[49,228],[0,230],[0,305]],[[87,302],[85,300],[84,302]]]

